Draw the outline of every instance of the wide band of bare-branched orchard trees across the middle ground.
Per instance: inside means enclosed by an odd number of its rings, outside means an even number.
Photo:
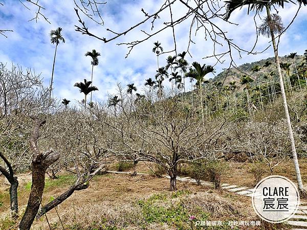
[[[10,182],[13,217],[19,215],[16,175],[32,171],[20,229],[29,229],[35,218],[75,191],[87,189],[90,180],[115,160],[133,162],[135,167],[140,161],[159,165],[174,191],[182,163],[204,162],[216,159],[217,153],[239,150],[262,158],[273,172],[289,155],[282,120],[255,123],[235,112],[204,117],[201,94],[193,104],[178,103],[168,97],[171,92],[164,91],[161,97],[148,91],[141,97],[118,85],[118,96],[84,109],[51,100],[49,87],[43,87],[30,70],[1,65],[0,73],[0,172]],[[299,110],[304,111],[304,103]],[[74,175],[75,182],[42,204],[45,174],[56,178],[60,171]]]

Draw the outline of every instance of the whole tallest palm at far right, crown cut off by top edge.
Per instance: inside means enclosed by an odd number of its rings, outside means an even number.
[[[297,2],[301,5],[307,5],[306,0],[297,0]],[[271,37],[272,43],[273,43],[273,49],[274,49],[274,54],[275,54],[275,59],[276,59],[276,66],[277,66],[277,71],[279,75],[279,82],[280,82],[280,91],[283,99],[283,107],[284,107],[284,114],[286,116],[287,120],[287,126],[288,126],[288,131],[289,131],[289,137],[291,141],[291,149],[292,149],[292,155],[293,155],[293,161],[294,161],[294,166],[295,166],[295,172],[296,172],[296,179],[298,183],[298,189],[300,193],[304,196],[306,196],[306,191],[304,190],[303,183],[302,183],[302,178],[300,174],[300,169],[299,169],[299,163],[297,159],[297,154],[296,154],[296,148],[295,148],[295,142],[294,142],[294,137],[293,137],[293,131],[292,131],[292,125],[291,125],[291,120],[289,116],[289,111],[288,111],[288,104],[287,104],[287,98],[286,98],[286,93],[283,88],[283,80],[282,80],[282,74],[281,74],[281,69],[280,69],[280,63],[279,63],[279,57],[278,57],[278,50],[276,46],[276,41],[275,41],[275,34],[281,33],[283,31],[283,26],[281,23],[281,18],[277,14],[271,14],[271,7],[274,7],[274,5],[281,6],[283,8],[284,3],[289,3],[289,1],[285,0],[273,0],[273,1],[259,1],[259,0],[227,0],[226,4],[226,19],[229,19],[231,13],[235,9],[242,9],[243,6],[247,5],[248,12],[251,10],[257,10],[257,13],[266,9],[267,11],[267,17],[264,19],[264,23],[261,25],[261,29],[259,30],[259,34],[265,35],[267,37]],[[291,3],[294,3],[291,1]]]

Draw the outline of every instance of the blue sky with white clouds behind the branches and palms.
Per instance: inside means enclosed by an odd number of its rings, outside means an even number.
[[[121,83],[124,87],[128,83],[135,83],[138,91],[142,93],[144,80],[156,74],[157,58],[151,52],[152,43],[159,40],[164,50],[172,50],[172,33],[170,30],[153,37],[151,40],[138,45],[125,59],[127,49],[124,46],[116,45],[117,42],[131,41],[136,37],[143,36],[140,30],[135,30],[121,37],[119,40],[103,43],[93,37],[82,35],[75,31],[74,25],[77,24],[77,16],[74,12],[73,0],[50,1],[40,0],[41,6],[46,8],[43,14],[48,17],[51,24],[42,17],[35,22],[29,21],[35,15],[35,7],[25,3],[30,10],[21,5],[18,1],[1,1],[4,6],[0,6],[0,29],[11,29],[14,32],[7,33],[8,38],[0,36],[0,61],[10,65],[12,62],[30,67],[35,73],[44,78],[46,85],[52,72],[52,63],[54,55],[54,45],[50,43],[49,32],[57,27],[63,28],[63,36],[66,42],[60,43],[57,52],[57,59],[54,73],[54,95],[59,98],[67,98],[71,101],[81,100],[83,95],[73,87],[75,82],[83,81],[83,78],[91,78],[91,59],[85,57],[86,51],[96,49],[101,53],[99,65],[94,67],[93,84],[99,88],[93,94],[95,100],[105,100],[109,94],[116,94],[116,84]],[[24,1],[25,2],[25,1]],[[111,37],[106,28],[115,31],[123,31],[135,22],[144,19],[141,12],[143,8],[146,12],[152,13],[158,9],[162,1],[158,0],[114,0],[101,6],[101,14],[105,25],[103,27],[95,25],[89,21],[89,29],[101,37]],[[284,25],[288,25],[296,13],[297,5],[286,5],[285,9],[278,9]],[[179,18],[186,13],[186,8],[180,4],[174,4],[172,7],[174,17]],[[280,56],[291,52],[302,54],[307,49],[307,7],[303,7],[290,29],[281,37],[279,45]],[[163,21],[169,21],[168,14],[161,14],[161,19],[157,20],[156,28],[162,26]],[[264,16],[261,15],[260,16]],[[85,17],[83,17],[86,20]],[[247,15],[246,9],[235,11],[230,18],[239,26],[227,24],[216,20],[216,24],[227,31],[227,35],[242,48],[250,50],[255,40],[255,25],[253,17]],[[261,19],[256,17],[258,24]],[[188,31],[190,21],[184,22],[176,28],[176,39],[178,52],[187,49]],[[150,31],[150,23],[142,26],[142,29]],[[188,57],[188,61],[198,61],[200,63],[214,64],[213,58],[202,59],[212,55],[212,42],[204,40],[204,33],[200,31],[196,37],[193,37],[193,44],[190,52],[193,58]],[[269,45],[269,39],[259,37],[256,47],[257,51],[263,50]],[[222,51],[224,47],[218,47]],[[169,54],[160,56],[160,64],[165,64],[165,58]],[[272,48],[258,55],[242,54],[242,59],[237,53],[234,53],[234,60],[237,64],[252,62],[255,60],[272,57]],[[225,63],[216,65],[216,73],[223,68],[228,67],[229,58],[225,57]],[[208,76],[213,77],[213,76]]]

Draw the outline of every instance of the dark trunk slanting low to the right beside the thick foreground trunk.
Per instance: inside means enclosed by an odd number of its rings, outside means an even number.
[[[62,193],[61,195],[59,195],[57,198],[55,198],[54,200],[52,200],[51,202],[49,202],[48,204],[46,204],[45,206],[43,206],[39,212],[36,215],[36,219],[42,217],[43,215],[45,215],[47,212],[49,212],[50,210],[52,210],[53,208],[55,208],[57,205],[59,205],[60,203],[62,203],[64,200],[66,200],[68,197],[70,197],[75,191],[79,191],[79,190],[83,190],[83,189],[87,189],[89,187],[89,184],[81,184],[81,185],[74,185],[71,186],[67,191],[65,191],[64,193]]]

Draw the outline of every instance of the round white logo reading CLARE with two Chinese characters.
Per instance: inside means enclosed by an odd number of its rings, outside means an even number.
[[[284,176],[268,176],[257,183],[252,194],[256,214],[270,223],[289,220],[299,206],[299,192],[294,183]]]

